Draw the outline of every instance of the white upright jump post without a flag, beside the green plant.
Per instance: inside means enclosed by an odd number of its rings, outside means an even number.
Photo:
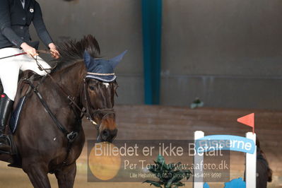
[[[194,144],[196,148],[196,140],[201,139],[204,137],[204,132],[203,131],[195,131],[194,132]],[[194,155],[194,164],[201,164],[204,163],[204,155],[199,155],[198,153],[195,153]],[[194,183],[193,187],[194,188],[203,188],[204,187],[204,165],[199,165],[201,168],[199,169],[194,169]]]

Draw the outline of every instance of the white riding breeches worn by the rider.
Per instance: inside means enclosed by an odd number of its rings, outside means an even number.
[[[23,50],[14,47],[6,47],[0,49],[0,58],[20,53],[23,53]],[[37,57],[37,61],[43,68],[50,68],[49,64],[47,64],[40,57]],[[16,97],[18,88],[18,74],[20,70],[31,70],[41,76],[46,75],[45,71],[40,71],[40,69],[38,69],[35,59],[29,57],[27,54],[0,59],[0,79],[4,88],[4,93],[6,93],[8,98],[11,100],[15,100]]]

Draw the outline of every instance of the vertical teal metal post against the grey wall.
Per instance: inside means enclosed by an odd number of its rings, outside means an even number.
[[[160,104],[162,0],[142,0],[145,104]]]

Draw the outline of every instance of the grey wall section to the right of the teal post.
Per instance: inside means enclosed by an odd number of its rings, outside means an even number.
[[[282,1],[163,3],[163,104],[282,109]]]

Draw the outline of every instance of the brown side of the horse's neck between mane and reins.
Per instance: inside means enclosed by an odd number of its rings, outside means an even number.
[[[78,97],[80,95],[81,83],[83,83],[83,76],[85,76],[86,67],[83,61],[74,65],[66,67],[54,74],[54,80],[63,88],[66,89],[69,95]]]

